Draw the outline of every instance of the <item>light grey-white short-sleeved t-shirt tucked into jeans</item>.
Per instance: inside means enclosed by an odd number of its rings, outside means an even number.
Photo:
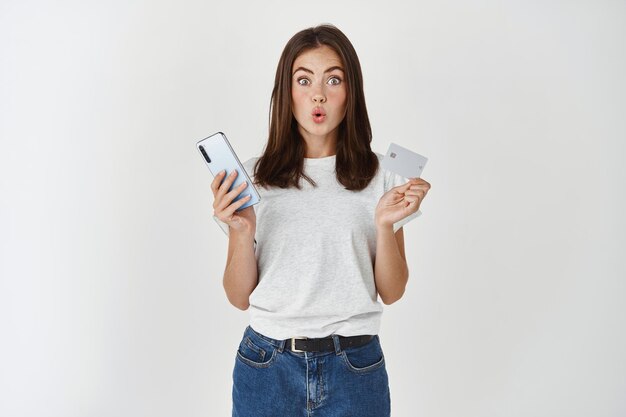
[[[257,159],[243,164],[253,181]],[[249,298],[250,326],[274,339],[378,334],[374,213],[380,197],[408,179],[379,167],[365,189],[349,191],[335,176],[335,155],[305,158],[304,172],[317,188],[304,179],[302,190],[256,187],[259,282]],[[419,215],[394,223],[393,231]]]

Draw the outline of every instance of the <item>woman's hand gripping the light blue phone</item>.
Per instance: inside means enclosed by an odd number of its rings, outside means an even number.
[[[239,184],[238,187],[228,192],[235,178],[237,178],[238,172],[235,169],[224,179],[225,174],[225,171],[220,172],[211,183],[211,191],[213,191],[214,197],[213,215],[228,224],[232,229],[254,236],[256,231],[256,213],[254,212],[254,207],[246,207],[243,210],[235,212],[236,209],[250,200],[250,195],[248,194],[246,197],[240,198],[238,201],[232,203],[248,184],[243,182]]]

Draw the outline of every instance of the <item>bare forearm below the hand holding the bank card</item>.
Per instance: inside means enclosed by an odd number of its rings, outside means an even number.
[[[402,228],[394,236],[393,225],[377,226],[374,280],[383,303],[389,305],[402,298],[408,279]]]

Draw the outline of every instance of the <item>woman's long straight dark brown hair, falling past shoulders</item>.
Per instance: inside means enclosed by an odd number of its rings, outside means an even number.
[[[278,61],[270,100],[269,138],[255,164],[254,181],[259,186],[300,189],[300,177],[311,185],[315,181],[304,174],[304,139],[292,113],[291,71],[303,52],[327,45],[334,49],[344,65],[347,88],[346,115],[338,126],[335,170],[337,181],[347,190],[367,187],[378,170],[378,158],[370,148],[372,129],[367,116],[361,64],[346,35],[330,24],[296,33],[287,42]]]

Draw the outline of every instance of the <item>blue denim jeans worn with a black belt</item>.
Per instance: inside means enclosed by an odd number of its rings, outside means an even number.
[[[389,381],[380,339],[342,350],[292,352],[289,340],[247,326],[233,370],[233,417],[388,417]]]

